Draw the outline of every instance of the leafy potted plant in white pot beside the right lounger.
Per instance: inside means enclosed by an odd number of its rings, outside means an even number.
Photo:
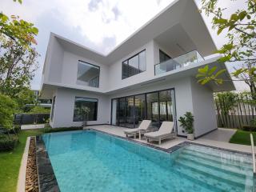
[[[180,117],[178,121],[181,126],[186,130],[186,137],[189,140],[194,140],[194,116],[191,112],[186,112],[184,117]]]

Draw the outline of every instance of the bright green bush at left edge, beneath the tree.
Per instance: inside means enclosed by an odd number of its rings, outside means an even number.
[[[17,103],[10,97],[0,94],[0,126],[6,129],[13,127],[14,113],[17,110]]]

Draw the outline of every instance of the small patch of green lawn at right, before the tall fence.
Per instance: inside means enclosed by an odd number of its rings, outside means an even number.
[[[242,144],[250,146],[250,133],[254,136],[254,145],[256,145],[256,132],[237,130],[235,134],[230,138],[231,143]]]

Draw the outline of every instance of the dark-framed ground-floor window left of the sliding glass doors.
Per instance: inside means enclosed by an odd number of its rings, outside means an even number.
[[[97,121],[98,99],[75,97],[74,122]],[[86,113],[85,111],[88,111]]]

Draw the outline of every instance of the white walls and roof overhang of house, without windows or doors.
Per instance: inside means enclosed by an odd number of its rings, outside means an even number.
[[[198,7],[190,0],[175,1],[107,55],[70,42],[57,34],[50,34],[41,93],[42,98],[55,97],[50,125],[82,126],[82,121],[74,122],[76,97],[98,99],[97,119],[87,122],[89,125],[98,125],[110,124],[111,118],[112,123],[115,121],[113,115],[116,112],[111,111],[111,101],[114,98],[172,89],[175,93],[174,121],[190,111],[194,114],[195,137],[206,134],[217,128],[213,92],[234,90],[234,85],[232,82],[225,82],[222,86],[214,83],[201,86],[195,75],[201,66],[218,66],[218,69],[225,69],[226,66],[218,63],[217,57],[158,75],[155,75],[154,67],[160,62],[159,50],[171,58],[177,58],[191,50],[198,50],[205,57],[215,49],[198,13]],[[122,62],[142,50],[145,50],[146,70],[122,79]],[[98,87],[77,84],[78,61],[100,67]],[[222,78],[226,78],[226,75]],[[178,135],[186,135],[179,123],[177,130]]]

